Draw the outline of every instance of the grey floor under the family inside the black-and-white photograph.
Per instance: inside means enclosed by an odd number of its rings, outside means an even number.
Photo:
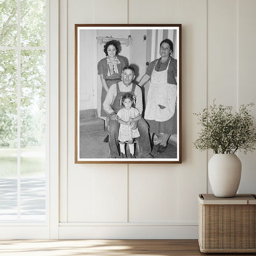
[[[103,140],[107,132],[96,132],[94,134],[82,135],[80,138],[80,158],[108,158],[110,150],[108,143]],[[168,143],[167,149],[164,153],[158,154],[159,145],[154,145],[151,154],[154,158],[177,158],[177,146]],[[129,156],[129,147],[127,146],[127,156]]]

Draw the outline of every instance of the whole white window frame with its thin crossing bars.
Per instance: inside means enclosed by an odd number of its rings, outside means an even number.
[[[20,6],[20,0],[17,1]],[[20,11],[20,7],[18,8]],[[19,15],[18,15],[19,16]],[[20,46],[20,20],[18,17],[17,47],[1,47],[18,51],[20,76],[21,50],[43,47]],[[0,239],[58,239],[58,0],[46,0],[46,221],[1,222]],[[20,97],[20,78],[17,82]],[[18,98],[18,111],[20,99]],[[19,113],[18,113],[19,115]],[[20,134],[20,124],[18,124]],[[20,148],[20,145],[17,146]],[[17,153],[20,158],[20,152]],[[20,164],[20,159],[18,161]],[[20,167],[18,167],[20,172]],[[20,173],[18,174],[20,179]]]

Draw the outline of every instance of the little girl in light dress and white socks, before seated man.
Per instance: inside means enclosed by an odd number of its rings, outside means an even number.
[[[128,140],[130,149],[130,158],[135,158],[134,156],[134,138],[140,137],[138,128],[132,129],[130,127],[131,123],[138,121],[142,118],[137,108],[133,108],[134,95],[124,94],[121,99],[122,106],[121,110],[118,111],[118,122],[120,123],[118,140],[120,141],[120,151],[121,157],[126,158],[126,150],[124,148],[126,141]]]

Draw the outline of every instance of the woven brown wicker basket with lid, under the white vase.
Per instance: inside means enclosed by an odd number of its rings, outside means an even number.
[[[199,194],[199,247],[206,253],[256,252],[256,197]]]

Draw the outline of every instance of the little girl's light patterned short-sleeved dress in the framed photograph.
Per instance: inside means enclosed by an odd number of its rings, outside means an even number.
[[[118,117],[122,119],[122,121],[128,122],[130,118],[135,118],[138,116],[139,112],[137,108],[130,108],[130,110],[126,110],[126,108],[121,108],[118,111]],[[127,140],[132,140],[133,138],[140,137],[140,133],[138,132],[138,128],[132,130],[130,126],[127,124],[120,124],[118,140],[120,142],[126,142]]]

